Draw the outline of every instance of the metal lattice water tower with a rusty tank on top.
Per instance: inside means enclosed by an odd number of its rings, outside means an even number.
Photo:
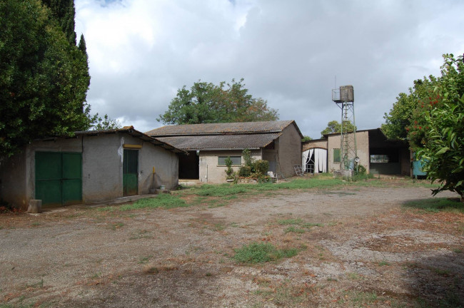
[[[340,145],[340,169],[354,170],[358,164],[358,149],[356,147],[355,125],[355,96],[353,86],[341,86],[332,90],[332,101],[341,108],[341,145]],[[350,124],[355,128],[349,131]]]

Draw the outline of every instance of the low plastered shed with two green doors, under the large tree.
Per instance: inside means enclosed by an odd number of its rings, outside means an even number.
[[[39,199],[46,207],[176,188],[179,153],[186,154],[132,126],[34,140],[0,163],[0,197],[22,208]]]

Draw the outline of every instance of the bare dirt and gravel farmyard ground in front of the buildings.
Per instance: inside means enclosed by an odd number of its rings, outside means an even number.
[[[0,215],[0,307],[463,307],[464,215],[401,207],[428,197],[392,183]],[[251,242],[298,255],[238,264]]]

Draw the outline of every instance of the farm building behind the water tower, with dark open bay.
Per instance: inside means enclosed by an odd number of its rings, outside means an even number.
[[[356,130],[356,143],[360,165],[363,165],[368,173],[411,175],[408,143],[389,140],[380,128]],[[310,173],[339,170],[340,144],[340,133],[323,135],[321,139],[304,142],[303,169]]]

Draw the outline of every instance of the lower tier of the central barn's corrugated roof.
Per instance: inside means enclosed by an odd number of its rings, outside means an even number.
[[[158,140],[169,143],[182,150],[226,150],[244,148],[263,148],[281,133],[258,133],[246,135],[193,135],[159,137]]]

